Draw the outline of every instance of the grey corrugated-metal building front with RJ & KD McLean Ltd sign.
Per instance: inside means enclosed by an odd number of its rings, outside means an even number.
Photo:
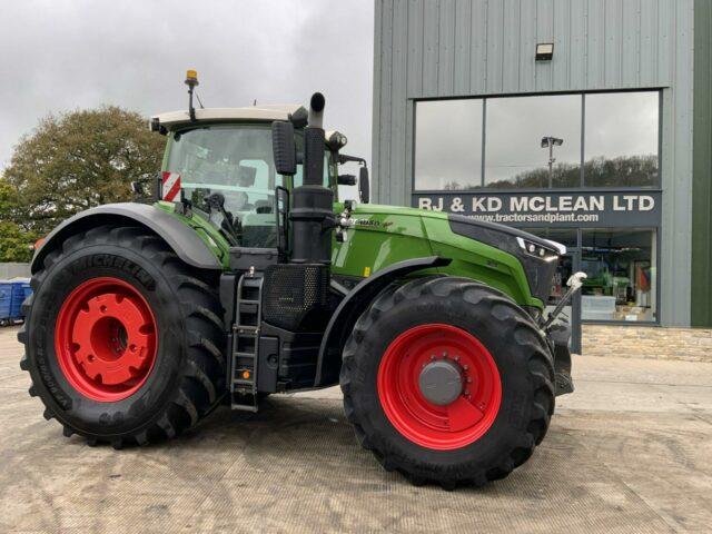
[[[565,244],[584,323],[712,326],[712,2],[375,12],[376,201]]]

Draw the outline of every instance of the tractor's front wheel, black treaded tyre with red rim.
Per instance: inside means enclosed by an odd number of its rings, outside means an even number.
[[[444,346],[446,355],[435,349]],[[469,369],[446,406],[428,404],[409,385],[433,356],[449,366],[456,356]],[[340,374],[344,409],[362,446],[387,471],[446,490],[481,486],[523,464],[548,428],[553,384],[551,352],[526,312],[455,277],[386,288],[357,320]]]

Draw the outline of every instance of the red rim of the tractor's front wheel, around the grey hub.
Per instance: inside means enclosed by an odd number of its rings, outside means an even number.
[[[462,394],[446,406],[427,400],[418,384],[433,358],[448,358],[462,369]],[[396,337],[380,360],[377,387],[393,426],[409,441],[437,451],[479,439],[502,403],[494,358],[475,336],[452,325],[421,325]]]

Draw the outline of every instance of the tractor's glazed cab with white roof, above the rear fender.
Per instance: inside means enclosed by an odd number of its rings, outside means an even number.
[[[285,105],[197,109],[192,119],[187,111],[157,115],[151,127],[168,137],[161,170],[180,177],[184,199],[206,211],[235,245],[275,247],[277,191],[288,194],[304,184],[304,113],[300,106]],[[290,118],[297,166],[294,176],[284,176],[275,166],[271,122]],[[362,158],[339,155],[345,145],[340,132],[325,134],[322,186],[334,192],[335,201],[338,185],[357,184],[355,176],[339,177],[339,164],[356,161],[365,168]],[[367,179],[362,172],[362,185]],[[210,209],[215,194],[224,198],[224,209]]]

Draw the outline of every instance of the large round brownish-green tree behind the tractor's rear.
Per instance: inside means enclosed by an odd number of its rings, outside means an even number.
[[[3,172],[14,201],[0,219],[46,235],[78,211],[130,199],[130,182],[160,169],[165,140],[147,125],[113,106],[42,119]]]

